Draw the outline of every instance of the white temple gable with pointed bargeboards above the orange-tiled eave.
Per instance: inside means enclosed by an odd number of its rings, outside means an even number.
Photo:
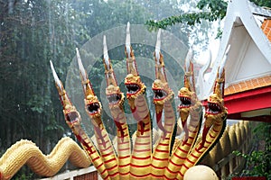
[[[231,49],[225,66],[226,88],[258,76],[271,75],[270,17],[271,10],[248,0],[229,2],[220,49],[209,79],[201,89],[201,100],[211,94],[216,71],[229,44]]]

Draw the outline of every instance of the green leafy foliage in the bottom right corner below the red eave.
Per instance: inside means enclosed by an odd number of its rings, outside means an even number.
[[[253,150],[250,154],[242,154],[239,151],[233,153],[247,160],[247,168],[243,170],[244,175],[265,176],[267,179],[271,179],[271,123],[260,122],[253,132],[257,143],[265,142],[265,148]]]

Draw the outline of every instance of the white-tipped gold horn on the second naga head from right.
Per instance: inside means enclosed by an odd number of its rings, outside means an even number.
[[[184,76],[184,86],[187,87],[190,91],[195,91],[194,75],[193,75],[193,49],[192,46],[188,50],[188,53],[185,58],[185,76]]]

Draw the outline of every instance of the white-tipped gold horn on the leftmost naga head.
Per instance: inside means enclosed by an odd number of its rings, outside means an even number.
[[[55,69],[53,67],[51,60],[50,60],[50,65],[51,65],[52,76],[54,78],[55,86],[57,87],[57,90],[59,92],[63,109],[64,110],[69,109],[69,107],[72,106],[72,103],[70,102],[70,99],[69,99],[68,95],[66,94],[66,91],[63,87],[63,84],[62,84],[59,76],[55,72]]]

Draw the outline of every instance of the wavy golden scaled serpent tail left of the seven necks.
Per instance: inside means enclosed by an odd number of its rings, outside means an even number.
[[[11,179],[23,166],[29,166],[37,175],[55,175],[68,161],[78,167],[88,167],[91,164],[85,151],[70,138],[61,139],[49,155],[42,151],[29,140],[22,139],[8,148],[0,158],[2,179]]]

